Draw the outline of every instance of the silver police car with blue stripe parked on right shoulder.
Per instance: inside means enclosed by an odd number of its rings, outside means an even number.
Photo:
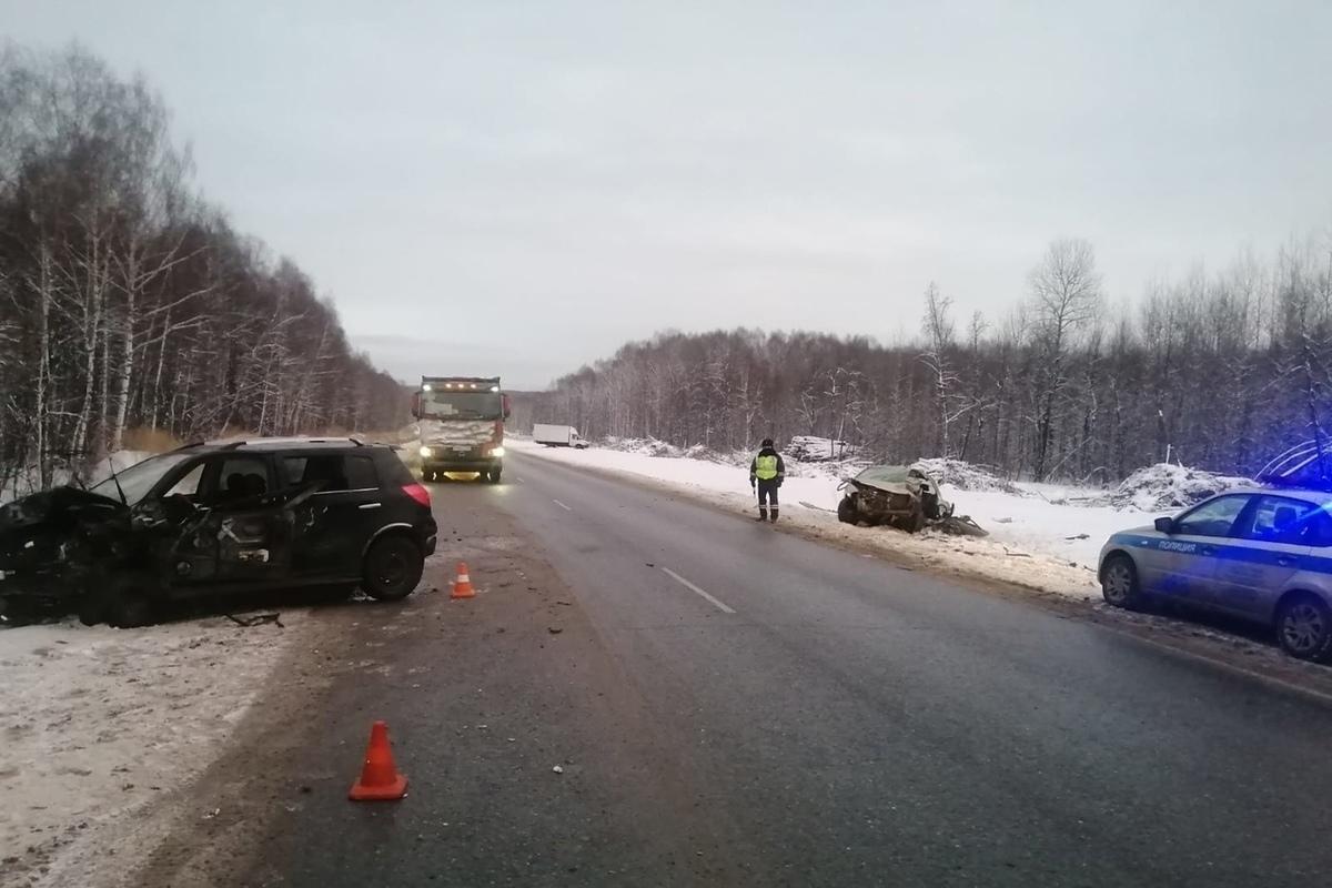
[[[1276,628],[1304,660],[1332,660],[1332,493],[1228,490],[1100,550],[1115,607],[1151,599],[1221,611]]]

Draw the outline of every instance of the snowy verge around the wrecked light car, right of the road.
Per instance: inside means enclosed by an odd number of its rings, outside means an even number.
[[[747,511],[754,505],[743,467],[597,447],[551,449],[515,438],[505,443],[543,459],[650,478],[737,511]],[[1111,533],[1151,523],[1154,518],[1154,513],[1134,509],[1054,503],[1035,490],[1023,491],[1032,495],[1020,495],[944,486],[944,497],[956,503],[958,514],[975,518],[990,537],[971,539],[932,533],[912,537],[892,529],[838,522],[839,479],[818,463],[802,465],[798,471],[803,477],[789,473],[782,486],[783,522],[795,522],[823,537],[904,554],[923,563],[1072,598],[1099,596],[1094,570],[1100,546]]]

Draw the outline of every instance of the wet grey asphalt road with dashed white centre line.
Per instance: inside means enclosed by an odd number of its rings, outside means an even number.
[[[1311,885],[1332,712],[1103,627],[514,455],[481,595],[365,611],[236,884]],[[370,660],[368,660],[370,662]],[[385,718],[406,800],[344,800]],[[563,774],[551,768],[561,764]],[[216,884],[224,884],[218,879]]]

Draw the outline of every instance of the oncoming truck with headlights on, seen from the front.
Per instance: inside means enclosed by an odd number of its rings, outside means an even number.
[[[426,481],[445,473],[478,473],[493,485],[503,473],[503,423],[509,395],[500,377],[422,377],[412,398],[421,429],[421,471]]]

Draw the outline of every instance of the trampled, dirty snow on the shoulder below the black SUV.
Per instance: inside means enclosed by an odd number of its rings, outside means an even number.
[[[153,803],[218,755],[309,631],[304,610],[281,619],[0,630],[0,888],[119,884],[164,833]]]

